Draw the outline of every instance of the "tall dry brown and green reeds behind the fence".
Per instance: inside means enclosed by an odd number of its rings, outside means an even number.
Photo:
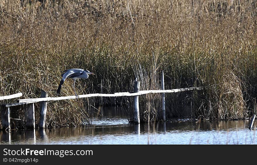
[[[68,68],[96,74],[77,82],[79,94],[133,91],[135,77],[141,90],[159,89],[164,70],[166,89],[204,87],[166,94],[168,118],[248,117],[257,94],[256,7],[256,0],[1,0],[0,95],[32,98],[44,89],[54,97]],[[61,94],[73,94],[72,80]],[[131,98],[115,101],[131,106]],[[89,122],[99,102],[50,102],[46,124]],[[159,103],[158,94],[140,97],[141,120],[158,120]]]

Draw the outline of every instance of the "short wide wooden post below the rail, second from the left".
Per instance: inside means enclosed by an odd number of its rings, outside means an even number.
[[[35,108],[34,103],[25,104],[26,128],[35,129]]]

